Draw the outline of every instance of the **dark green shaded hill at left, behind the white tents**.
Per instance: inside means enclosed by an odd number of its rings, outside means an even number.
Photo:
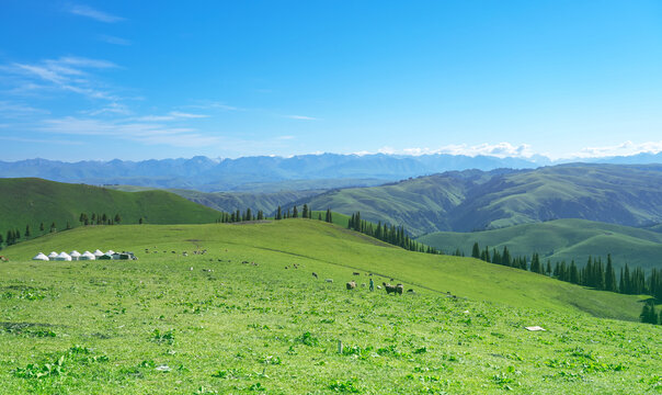
[[[84,184],[67,184],[41,179],[0,179],[0,232],[30,225],[34,236],[47,233],[55,222],[58,230],[79,226],[80,213],[119,214],[122,223],[150,224],[213,223],[215,210],[192,203],[164,191],[119,192]],[[39,232],[44,223],[44,232]]]

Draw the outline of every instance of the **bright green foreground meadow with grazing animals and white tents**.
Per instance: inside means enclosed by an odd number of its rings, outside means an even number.
[[[139,260],[30,260],[95,248]],[[3,253],[0,394],[662,391],[639,297],[315,219],[81,227]],[[415,293],[370,293],[368,272]]]

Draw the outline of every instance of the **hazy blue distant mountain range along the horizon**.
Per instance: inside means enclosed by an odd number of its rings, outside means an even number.
[[[662,153],[628,157],[585,159],[603,163],[662,163]],[[293,157],[243,157],[237,159],[150,159],[142,161],[66,162],[27,159],[0,161],[0,178],[38,177],[60,182],[127,184],[149,188],[189,189],[202,192],[315,190],[370,187],[385,181],[444,171],[499,168],[534,169],[557,165],[544,156],[532,158],[433,154],[402,155],[300,155]]]

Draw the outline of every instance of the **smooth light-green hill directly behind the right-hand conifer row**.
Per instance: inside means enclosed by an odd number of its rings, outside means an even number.
[[[612,253],[616,268],[640,266],[649,269],[662,266],[662,234],[628,226],[584,219],[557,219],[546,223],[515,225],[501,229],[453,233],[437,232],[419,237],[420,242],[471,255],[473,242],[503,249],[515,256],[530,256],[534,251],[552,262],[574,259],[583,266],[589,256]]]

